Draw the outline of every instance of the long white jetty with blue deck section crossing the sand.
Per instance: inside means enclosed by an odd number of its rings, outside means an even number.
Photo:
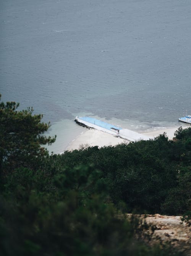
[[[118,136],[119,138],[126,139],[128,141],[140,141],[140,140],[149,140],[150,137],[131,131],[129,129],[123,129],[119,126],[106,123],[104,121],[92,118],[92,117],[76,117],[76,123],[87,128],[94,128],[99,131],[104,131],[112,135]]]

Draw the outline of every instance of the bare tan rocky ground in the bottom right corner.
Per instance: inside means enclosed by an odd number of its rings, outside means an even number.
[[[141,215],[139,237],[149,245],[172,245],[186,256],[191,256],[191,223],[181,216]]]

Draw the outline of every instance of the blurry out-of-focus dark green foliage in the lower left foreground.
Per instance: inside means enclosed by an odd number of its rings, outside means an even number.
[[[1,255],[179,255],[135,240],[138,221],[129,222],[115,205],[103,202],[92,182],[96,170],[79,166],[71,172],[74,179],[62,174],[52,189],[42,186],[45,174],[32,176],[30,169],[17,169],[6,177],[0,198]],[[84,196],[87,186],[92,193]]]

